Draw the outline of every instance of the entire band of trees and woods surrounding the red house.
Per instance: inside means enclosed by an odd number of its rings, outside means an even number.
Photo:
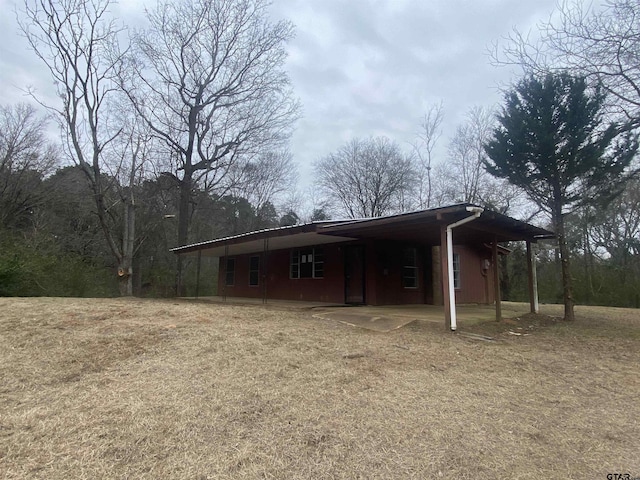
[[[318,159],[302,212],[286,150],[299,112],[283,69],[293,26],[268,21],[266,2],[164,0],[125,35],[108,0],[27,0],[21,28],[58,95],[34,98],[64,142],[46,140],[33,107],[2,107],[0,294],[185,293],[193,269],[176,265],[176,245],[469,202],[561,230],[560,248],[538,253],[542,301],[640,306],[640,12],[607,5],[561,4],[539,39],[514,31],[498,45],[494,61],[522,79],[502,107],[470,108],[446,148],[436,104],[411,145],[359,138]],[[517,300],[526,269],[514,249],[503,291]]]

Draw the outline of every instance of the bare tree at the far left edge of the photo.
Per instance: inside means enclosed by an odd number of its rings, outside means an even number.
[[[0,105],[0,226],[24,224],[46,200],[40,183],[57,158],[45,128],[31,105]]]

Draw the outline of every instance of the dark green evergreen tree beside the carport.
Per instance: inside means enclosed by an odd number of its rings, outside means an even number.
[[[628,179],[638,137],[606,123],[601,89],[567,73],[527,77],[506,94],[499,125],[485,145],[489,173],[524,189],[552,218],[562,263],[565,320],[573,320],[564,217],[611,199]]]

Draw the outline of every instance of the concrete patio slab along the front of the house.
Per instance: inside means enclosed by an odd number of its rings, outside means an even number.
[[[185,298],[185,300],[196,300]],[[229,305],[264,305],[268,308],[285,310],[311,310],[316,318],[334,320],[355,327],[378,332],[390,332],[414,321],[438,323],[445,327],[444,309],[437,305],[383,305],[350,306],[322,302],[299,302],[293,300],[267,300],[245,297],[200,297],[198,301],[226,303]],[[511,318],[526,313],[522,303],[503,302],[503,318]],[[495,319],[494,305],[458,305],[458,324],[464,328],[478,322]]]

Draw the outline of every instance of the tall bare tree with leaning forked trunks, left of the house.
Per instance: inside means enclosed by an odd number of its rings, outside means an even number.
[[[118,175],[105,174],[110,149],[122,133],[112,116],[122,66],[118,37],[109,16],[110,0],[27,0],[20,26],[54,80],[59,104],[40,101],[60,123],[63,144],[80,166],[93,192],[96,214],[118,264],[120,293],[131,295],[135,235],[133,208],[125,197],[124,225],[114,222],[112,198]],[[127,163],[131,171],[137,162]],[[120,172],[124,163],[115,170]]]

